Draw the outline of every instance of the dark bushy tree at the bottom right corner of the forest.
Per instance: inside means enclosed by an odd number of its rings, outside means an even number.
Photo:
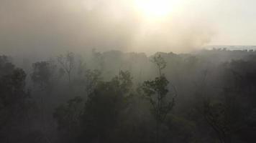
[[[220,143],[232,142],[232,134],[242,129],[240,125],[245,122],[241,120],[245,114],[242,115],[235,95],[229,94],[224,92],[219,99],[205,98],[202,107],[198,108],[206,123],[216,132]]]

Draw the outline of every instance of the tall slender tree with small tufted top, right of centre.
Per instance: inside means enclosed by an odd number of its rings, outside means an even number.
[[[160,54],[158,56],[154,56],[152,62],[157,66],[159,77],[156,77],[155,80],[152,81],[145,81],[142,85],[142,90],[146,99],[148,99],[152,105],[152,114],[156,120],[156,142],[159,142],[160,123],[165,121],[166,115],[171,109],[173,109],[177,92],[175,87],[173,87],[174,95],[171,99],[168,99],[169,82],[165,78],[165,75],[162,74],[162,70],[166,66],[166,62],[163,57]]]

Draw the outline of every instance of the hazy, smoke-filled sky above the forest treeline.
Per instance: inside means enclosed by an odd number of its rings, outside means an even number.
[[[255,0],[149,1],[0,0],[0,52],[256,45]]]

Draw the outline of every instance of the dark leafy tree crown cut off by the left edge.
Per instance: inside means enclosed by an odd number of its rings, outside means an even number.
[[[13,64],[2,61],[1,58],[0,56],[0,72],[9,72],[0,76],[0,112],[16,116],[25,107],[25,100],[29,99],[29,92],[25,89],[26,74],[22,69],[15,68]],[[2,114],[1,117],[6,116]]]

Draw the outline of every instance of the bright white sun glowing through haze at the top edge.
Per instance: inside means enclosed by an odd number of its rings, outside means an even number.
[[[168,16],[178,0],[134,0],[137,11],[151,18]]]

